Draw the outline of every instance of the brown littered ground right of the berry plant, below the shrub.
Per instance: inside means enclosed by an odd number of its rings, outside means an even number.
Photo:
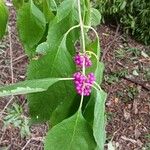
[[[103,89],[108,93],[107,141],[112,140],[118,150],[148,150],[150,78],[146,76],[146,70],[150,66],[150,57],[143,57],[141,52],[148,54],[149,47],[117,33],[112,27],[101,26],[98,31],[104,50],[102,57],[107,51],[103,83]],[[132,48],[138,49],[138,56],[126,50]],[[123,51],[123,55],[119,57],[118,51]],[[137,76],[133,75],[134,70],[137,70]]]

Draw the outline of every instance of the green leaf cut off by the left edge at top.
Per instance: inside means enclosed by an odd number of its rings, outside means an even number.
[[[3,0],[0,0],[0,39],[4,36],[8,21],[8,10]]]

